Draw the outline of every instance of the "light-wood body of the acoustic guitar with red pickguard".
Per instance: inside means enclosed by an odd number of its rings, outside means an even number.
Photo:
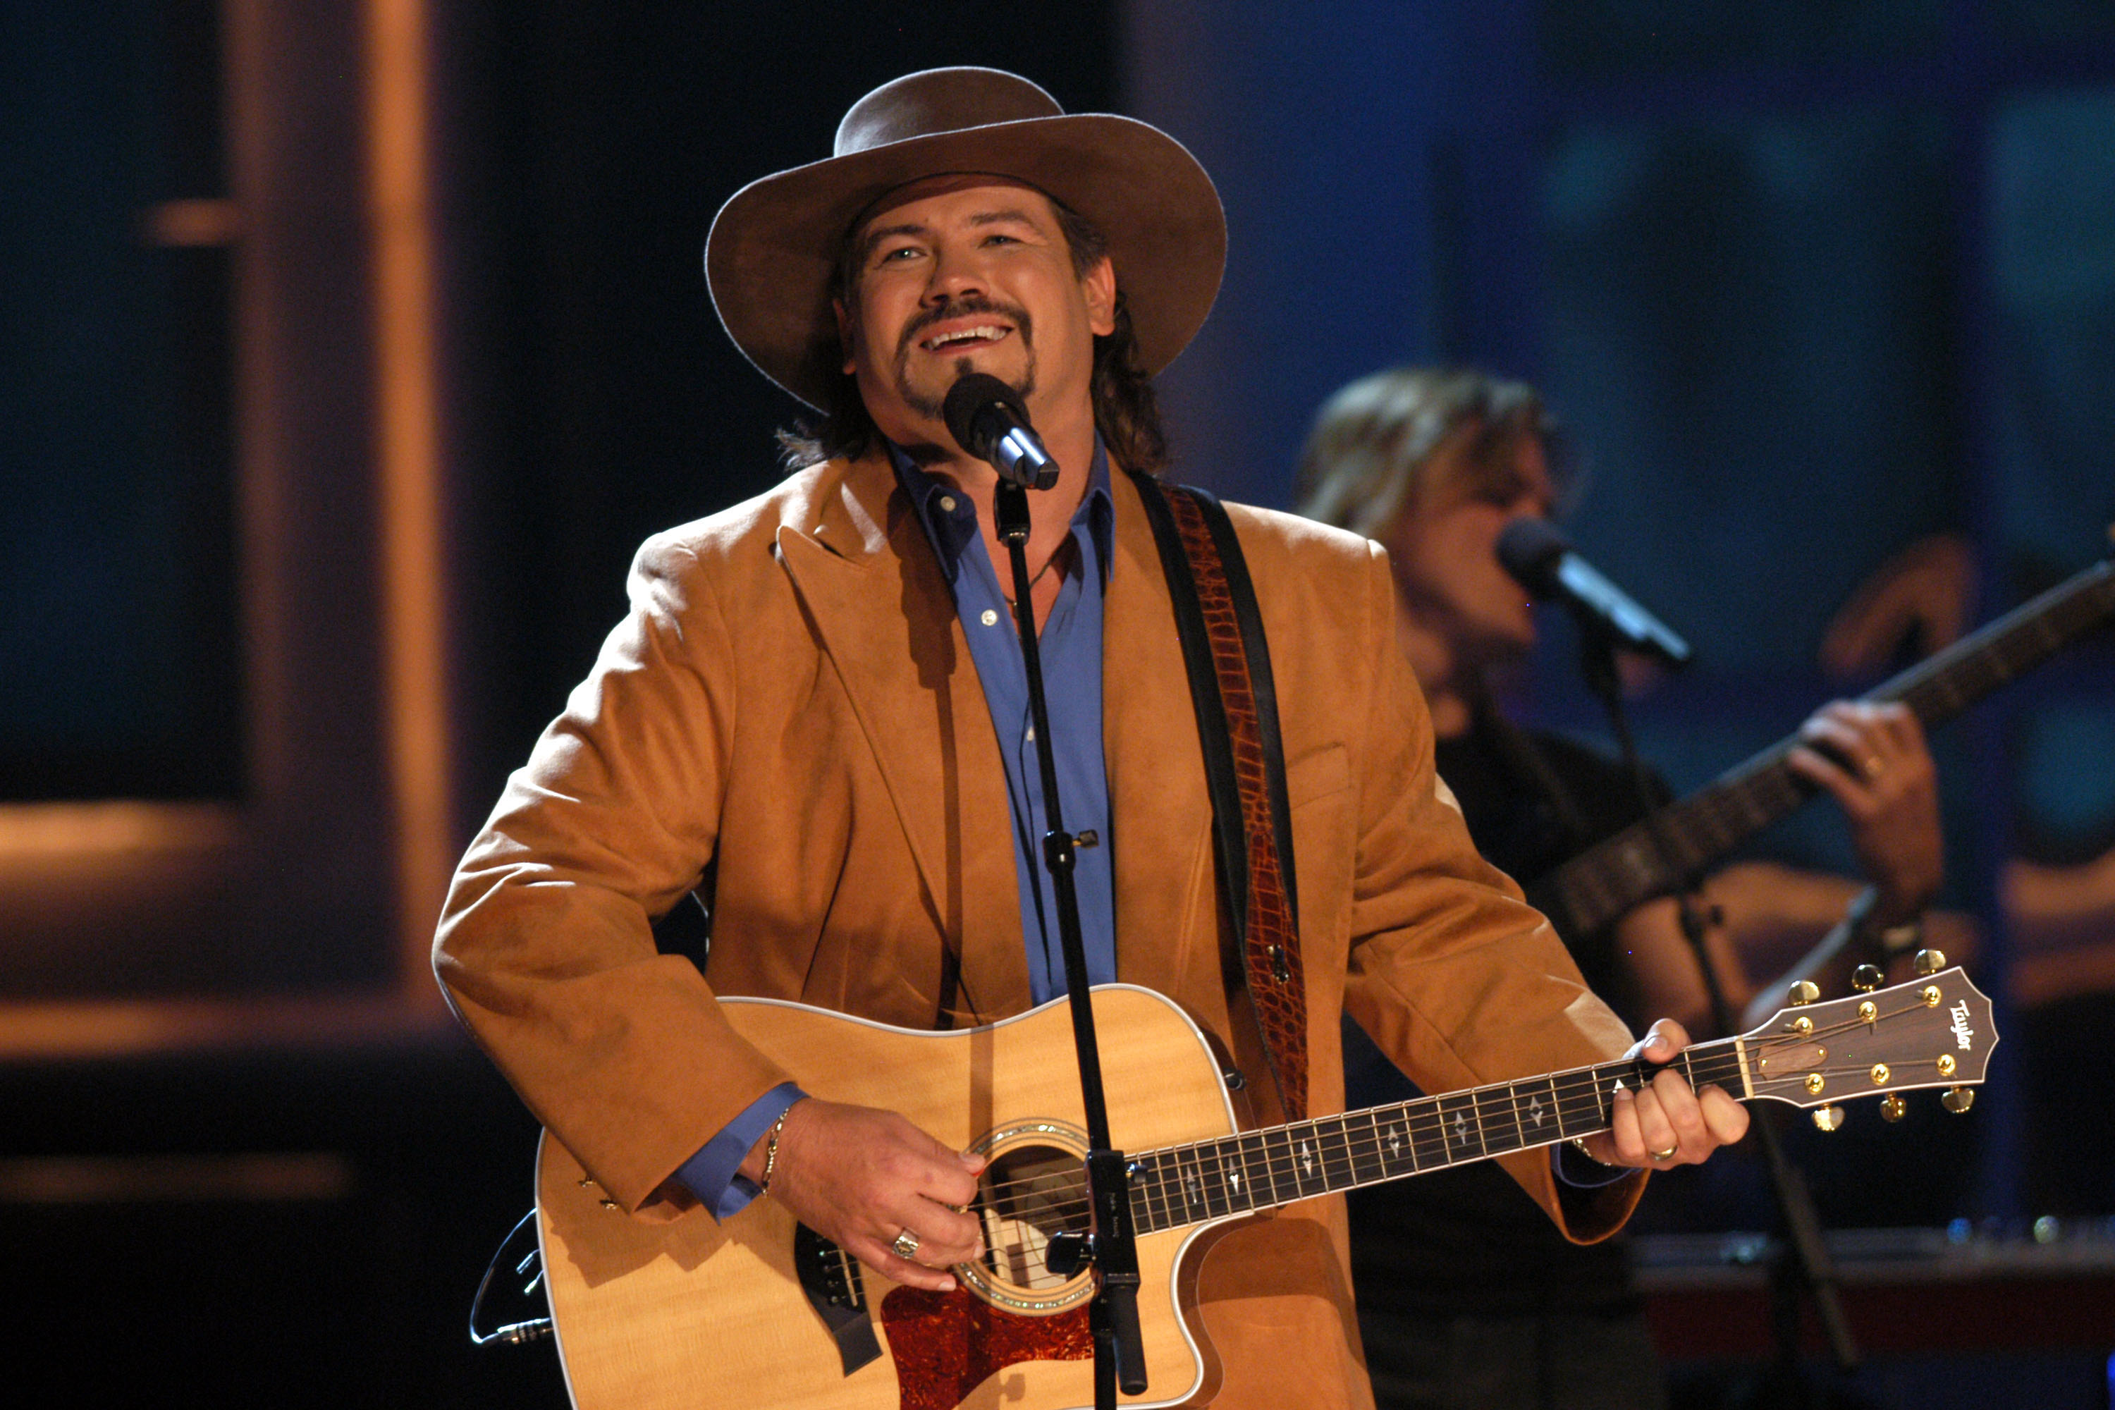
[[[734,1027],[812,1093],[903,1112],[956,1148],[1022,1156],[1083,1148],[1064,1002],[962,1032],[912,1032],[774,1000],[723,1000]],[[1229,1135],[1233,1108],[1203,1034],[1148,989],[1093,991],[1110,1139],[1144,1150]],[[725,1224],[702,1209],[649,1224],[601,1203],[577,1161],[544,1135],[537,1226],[558,1353],[577,1410],[802,1406],[814,1410],[1062,1410],[1093,1404],[1085,1275],[948,1298],[859,1268],[880,1357],[846,1372],[840,1342],[795,1268],[795,1222],[770,1199]],[[1138,1239],[1144,1397],[1216,1391],[1216,1363],[1184,1319],[1195,1266],[1229,1220]],[[992,1241],[988,1232],[988,1241]],[[1028,1235],[1034,1243],[1034,1235]],[[994,1241],[994,1247],[998,1241]],[[1030,1249],[1034,1258],[1038,1249]],[[1032,1281],[1032,1279],[1024,1279]],[[1026,1302],[1011,1311],[1000,1302]],[[1064,1306],[1045,1306],[1064,1304]]]

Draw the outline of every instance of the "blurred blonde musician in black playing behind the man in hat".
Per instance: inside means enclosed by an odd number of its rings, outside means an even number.
[[[1535,645],[1527,592],[1493,545],[1510,522],[1555,512],[1561,465],[1559,429],[1535,391],[1472,370],[1351,383],[1320,410],[1301,459],[1301,509],[1387,548],[1396,643],[1432,712],[1438,772],[1478,850],[1523,882],[1639,816],[1626,769],[1516,725],[1493,691],[1493,676]],[[1935,772],[1906,706],[1834,702],[1800,734],[1808,746],[1791,767],[1842,805],[1872,879],[1859,920],[1794,966],[1840,989],[1853,964],[1906,960],[1916,947],[1942,877]],[[1711,901],[1739,907],[1741,894]],[[1673,1013],[1692,1032],[1713,1027],[1673,898],[1565,943],[1588,985],[1633,1023]],[[1749,1023],[1781,1004],[1779,983],[1760,983],[1768,975],[1749,968],[1728,926],[1711,928],[1709,947],[1730,1006],[1755,1002]],[[1400,1074],[1362,1046],[1354,1101],[1390,1099]],[[1620,1243],[1574,1245],[1531,1216],[1481,1167],[1354,1192],[1351,1260],[1383,1406],[1660,1404]]]

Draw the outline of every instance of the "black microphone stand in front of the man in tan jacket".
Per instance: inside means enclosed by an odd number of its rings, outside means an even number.
[[[1079,892],[1072,867],[1081,846],[1093,837],[1072,837],[1058,805],[1058,759],[1051,753],[1051,721],[1043,698],[1043,653],[1036,643],[1034,579],[1028,575],[1028,490],[998,476],[994,497],[998,537],[1013,560],[1013,626],[1022,636],[1022,666],[1028,672],[1028,717],[1036,729],[1036,763],[1043,776],[1043,867],[1058,892],[1058,936],[1064,949],[1066,998],[1072,1008],[1072,1046],[1079,1051],[1079,1091],[1087,1112],[1087,1203],[1093,1232],[1083,1239],[1058,1235],[1049,1264],[1070,1277],[1081,1264],[1096,1268],[1096,1292],[1087,1304],[1093,1334],[1093,1404],[1115,1410],[1117,1385],[1125,1395],[1146,1393],[1146,1351],[1138,1330],[1138,1241],[1132,1228],[1132,1188],[1123,1152],[1108,1142],[1108,1103],[1102,1097],[1102,1051],[1093,1036],[1093,1000],[1087,991],[1087,943],[1079,928]],[[1060,1266],[1064,1264],[1064,1266]]]

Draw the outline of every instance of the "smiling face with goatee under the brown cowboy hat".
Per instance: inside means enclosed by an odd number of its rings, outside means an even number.
[[[838,307],[844,370],[897,444],[952,444],[941,402],[990,372],[1045,412],[1091,416],[1093,336],[1115,328],[1115,275],[1085,275],[1049,197],[992,175],[937,175],[893,192],[852,235]]]

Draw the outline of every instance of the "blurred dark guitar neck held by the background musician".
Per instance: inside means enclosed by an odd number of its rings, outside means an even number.
[[[1912,666],[1865,700],[1899,700],[1925,725],[1944,723],[2109,615],[2115,615],[2115,564],[2098,562]],[[1639,903],[1677,890],[1813,797],[1815,786],[1787,763],[1796,744],[1798,736],[1781,740],[1665,808],[1654,824],[1635,822],[1595,843],[1529,886],[1529,896],[1569,922],[1569,934],[1590,934]]]

